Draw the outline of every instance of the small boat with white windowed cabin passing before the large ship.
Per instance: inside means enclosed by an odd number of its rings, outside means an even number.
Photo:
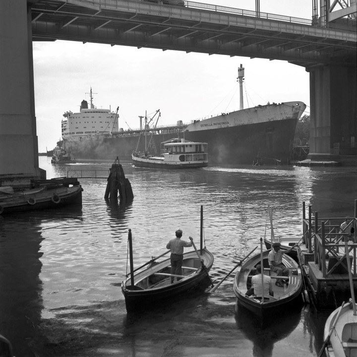
[[[193,142],[180,138],[161,143],[160,156],[147,152],[133,152],[132,162],[135,167],[187,169],[208,166],[207,143]]]

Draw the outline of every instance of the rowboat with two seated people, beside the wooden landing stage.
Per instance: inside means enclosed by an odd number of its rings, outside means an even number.
[[[245,261],[238,267],[234,282],[233,290],[237,297],[239,305],[250,310],[261,323],[269,321],[269,317],[279,313],[282,309],[289,309],[297,305],[297,299],[301,299],[302,278],[297,262],[287,254],[283,254],[283,264],[289,268],[288,277],[277,277],[274,272],[270,271],[268,264],[269,251],[262,251]],[[245,293],[251,287],[251,277],[255,274],[255,267],[263,261],[264,274],[269,275],[273,281],[274,297],[269,295],[246,296]],[[277,278],[286,278],[287,284],[284,287],[275,285]]]

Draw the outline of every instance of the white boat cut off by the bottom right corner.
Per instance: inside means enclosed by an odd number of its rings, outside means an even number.
[[[326,356],[357,356],[357,314],[352,299],[334,310],[325,323]]]

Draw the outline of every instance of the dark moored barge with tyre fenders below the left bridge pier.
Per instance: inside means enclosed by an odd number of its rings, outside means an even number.
[[[33,189],[0,196],[0,214],[35,211],[82,204],[80,185],[54,189]]]

